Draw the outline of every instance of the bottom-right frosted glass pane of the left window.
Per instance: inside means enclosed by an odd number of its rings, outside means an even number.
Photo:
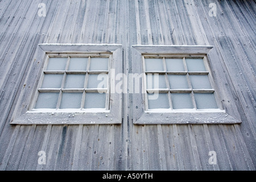
[[[105,108],[106,94],[105,93],[86,93],[84,108]]]

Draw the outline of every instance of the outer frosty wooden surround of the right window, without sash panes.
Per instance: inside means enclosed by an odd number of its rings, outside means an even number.
[[[133,123],[137,125],[146,124],[217,124],[217,123],[241,123],[226,113],[222,105],[218,88],[214,84],[212,71],[210,69],[209,51],[213,46],[132,46],[133,73],[143,74],[142,93],[133,94]],[[218,109],[148,109],[146,91],[146,72],[144,70],[145,57],[202,57],[204,59],[212,91],[218,105]],[[136,60],[136,62],[135,62]],[[176,90],[178,91],[178,90]],[[200,90],[197,90],[198,92]],[[201,90],[205,92],[207,90]],[[209,90],[211,91],[211,90]],[[195,102],[194,102],[195,104]],[[143,109],[138,109],[143,108]]]

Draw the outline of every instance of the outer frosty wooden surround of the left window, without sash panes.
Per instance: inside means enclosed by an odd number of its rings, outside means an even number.
[[[31,102],[26,113],[11,119],[11,124],[23,125],[79,125],[79,124],[121,124],[122,94],[115,93],[115,76],[122,73],[122,45],[120,44],[39,44],[44,53],[44,63],[40,77],[31,94]],[[109,57],[109,92],[106,93],[105,109],[34,109],[39,86],[42,84],[44,70],[49,56],[108,56]],[[113,73],[111,72],[113,71]],[[19,101],[18,101],[19,102]]]

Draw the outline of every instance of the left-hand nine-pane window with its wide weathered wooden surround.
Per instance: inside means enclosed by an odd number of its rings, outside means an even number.
[[[109,124],[122,122],[122,73],[118,44],[39,44],[44,64],[26,113],[14,124]]]

